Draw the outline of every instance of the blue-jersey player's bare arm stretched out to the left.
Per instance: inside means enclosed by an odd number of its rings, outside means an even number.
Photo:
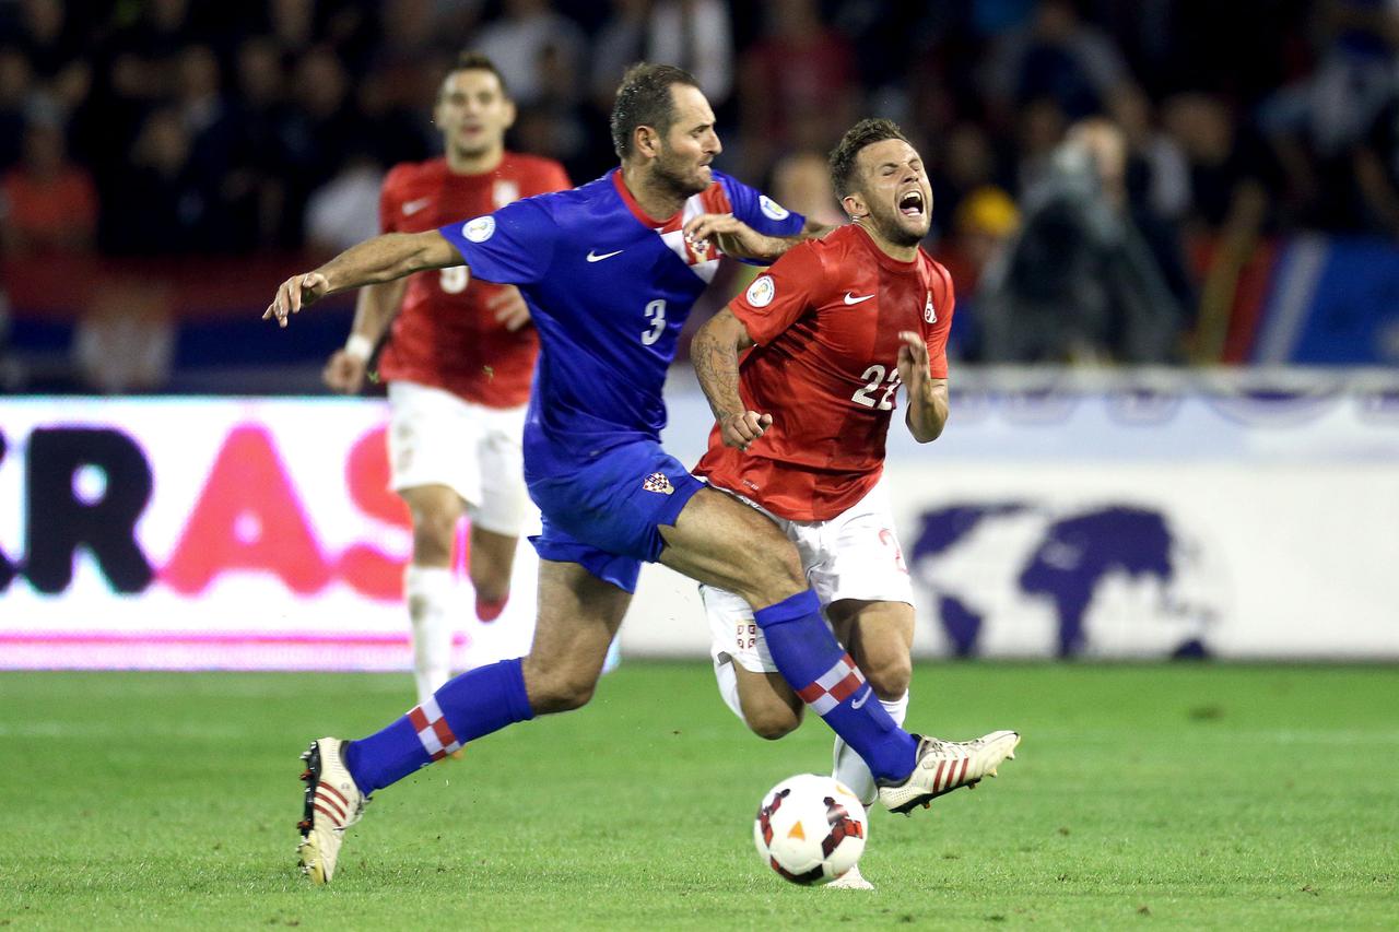
[[[383,234],[350,246],[315,271],[292,276],[277,288],[263,319],[287,326],[287,318],[327,294],[378,281],[393,281],[424,269],[462,264],[456,246],[436,230],[420,234]]]

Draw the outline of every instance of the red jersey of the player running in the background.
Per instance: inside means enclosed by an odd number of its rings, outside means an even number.
[[[505,153],[492,172],[457,175],[445,158],[395,165],[379,195],[385,232],[422,232],[488,214],[520,197],[572,188],[550,158]],[[403,306],[379,357],[386,381],[431,385],[477,404],[516,407],[529,400],[539,334],[511,333],[487,301],[502,285],[467,280],[456,266],[409,278]]]

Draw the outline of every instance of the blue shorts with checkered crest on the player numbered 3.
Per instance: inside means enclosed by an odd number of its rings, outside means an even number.
[[[655,441],[614,446],[576,470],[526,483],[543,514],[543,532],[530,537],[540,558],[576,563],[627,592],[637,591],[642,561],[660,557],[660,526],[676,523],[704,488]]]

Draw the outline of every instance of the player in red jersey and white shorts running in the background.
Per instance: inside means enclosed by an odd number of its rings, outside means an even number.
[[[436,230],[520,197],[571,188],[564,167],[511,153],[515,105],[495,64],[464,53],[438,91],[434,122],[446,153],[396,165],[383,182],[385,232]],[[476,614],[492,621],[509,595],[515,546],[529,514],[520,434],[539,336],[512,285],[469,281],[464,266],[365,287],[326,385],[358,392],[385,332],[379,375],[389,385],[393,490],[413,516],[413,561],[404,592],[413,620],[418,698],[452,673],[452,546],[471,518],[470,578]]]

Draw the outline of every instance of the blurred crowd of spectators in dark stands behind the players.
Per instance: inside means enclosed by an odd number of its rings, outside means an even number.
[[[1399,235],[1393,0],[0,0],[3,256],[371,235],[463,48],[575,181],[616,164],[623,69],[687,67],[720,164],[831,223],[824,153],[894,118],[967,358],[1216,358],[1260,241]]]

